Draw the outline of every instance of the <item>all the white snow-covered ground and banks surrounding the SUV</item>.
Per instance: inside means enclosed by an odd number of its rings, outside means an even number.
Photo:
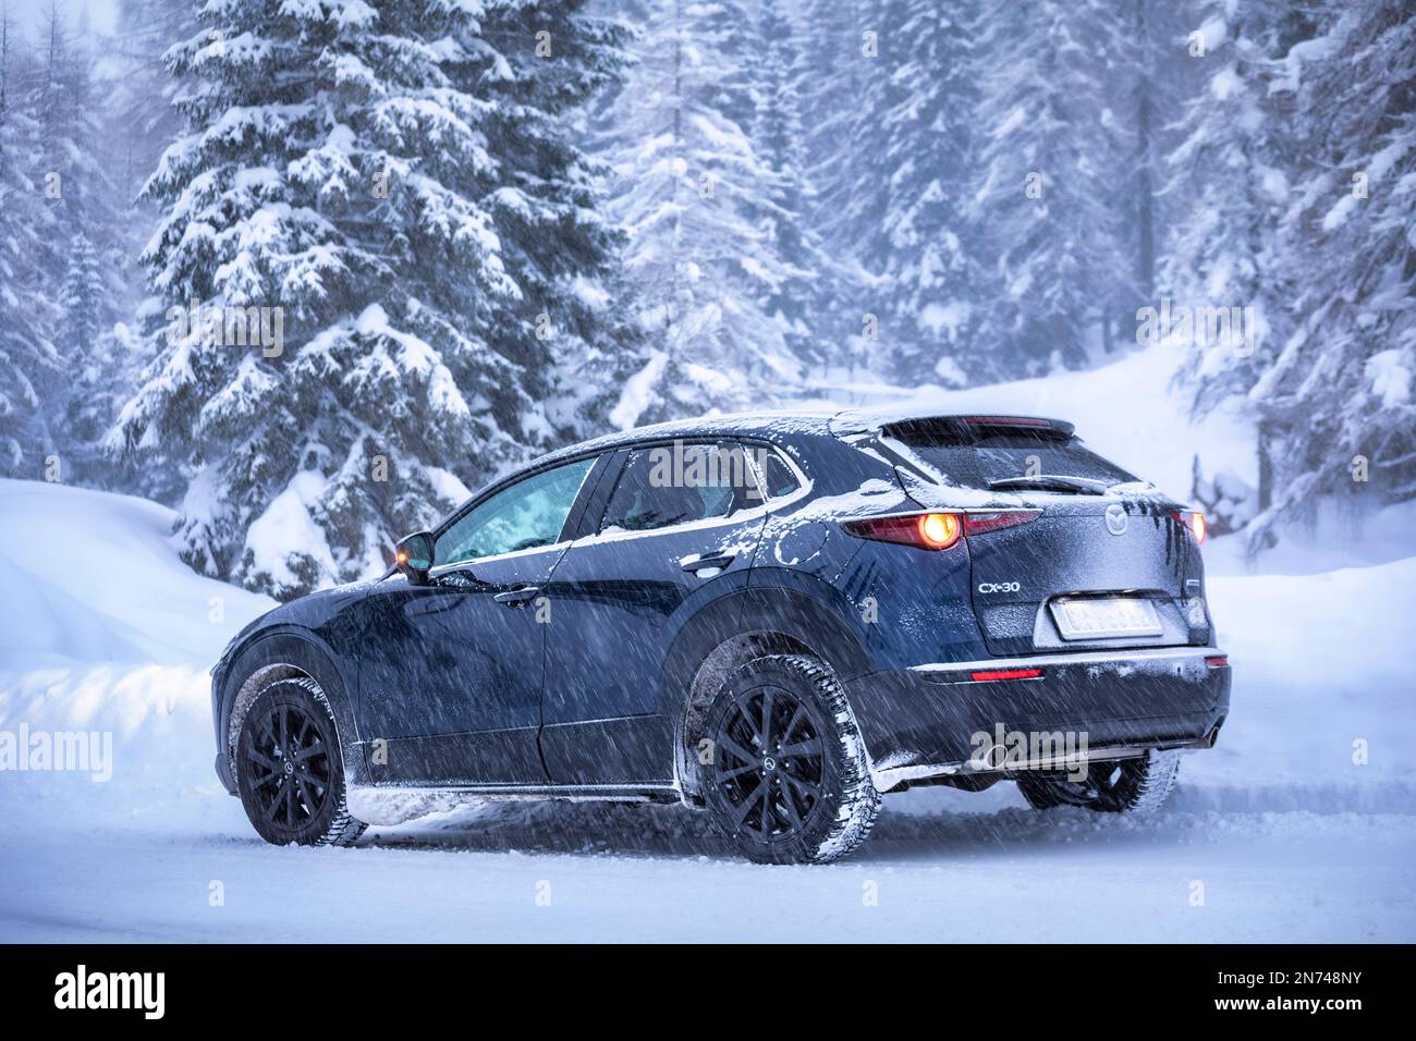
[[[1070,388],[925,394],[1066,415],[1181,494],[1197,443],[1240,472],[1238,421],[1177,439],[1154,370],[1140,353]],[[263,844],[211,770],[205,669],[270,602],[187,571],[170,523],[0,482],[0,734],[112,734],[106,782],[0,772],[0,940],[1416,940],[1410,511],[1296,537],[1259,562],[1273,574],[1206,547],[1233,714],[1158,816],[918,790],[813,868],[738,861],[653,806],[493,804],[350,850]]]

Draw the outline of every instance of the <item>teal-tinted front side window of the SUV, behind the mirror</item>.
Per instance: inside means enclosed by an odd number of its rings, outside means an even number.
[[[582,459],[503,489],[438,537],[433,564],[460,564],[554,545],[592,466],[595,459]]]

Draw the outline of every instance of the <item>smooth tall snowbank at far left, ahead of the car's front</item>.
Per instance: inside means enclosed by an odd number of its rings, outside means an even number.
[[[207,669],[275,601],[187,568],[173,517],[143,499],[0,480],[0,732],[110,735],[113,759],[108,782],[0,773],[0,823],[198,823],[234,802],[211,770]]]

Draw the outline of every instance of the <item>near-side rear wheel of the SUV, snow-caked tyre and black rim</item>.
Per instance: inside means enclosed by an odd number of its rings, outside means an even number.
[[[845,694],[820,661],[749,661],[708,708],[704,734],[708,812],[752,860],[820,864],[869,833],[881,797]]]

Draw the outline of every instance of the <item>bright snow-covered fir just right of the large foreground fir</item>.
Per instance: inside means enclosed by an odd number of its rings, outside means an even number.
[[[750,140],[742,0],[630,0],[641,31],[624,88],[599,113],[613,167],[610,214],[629,238],[644,363],[612,411],[617,426],[770,402],[799,378],[763,302],[789,278],[753,208],[772,170]]]

